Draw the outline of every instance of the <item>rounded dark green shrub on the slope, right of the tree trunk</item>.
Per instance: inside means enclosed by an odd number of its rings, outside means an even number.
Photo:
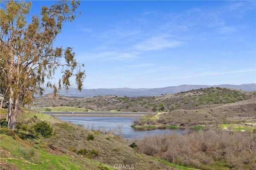
[[[36,123],[33,128],[35,129],[36,133],[41,134],[44,138],[49,138],[52,136],[52,127],[45,121]]]

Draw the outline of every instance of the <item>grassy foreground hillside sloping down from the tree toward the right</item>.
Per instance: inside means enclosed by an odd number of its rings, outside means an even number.
[[[5,114],[1,111],[1,118]],[[46,122],[50,138],[35,132],[34,125]],[[110,131],[91,131],[80,125],[22,108],[14,138],[1,127],[1,170],[66,169],[111,170],[115,164],[133,164],[134,169],[192,169],[156,160],[129,147],[132,141]],[[9,134],[10,135],[10,134]],[[88,138],[89,137],[89,138]]]

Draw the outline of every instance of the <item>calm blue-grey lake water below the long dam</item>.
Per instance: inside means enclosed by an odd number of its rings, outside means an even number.
[[[138,119],[140,116],[56,116],[57,118],[70,121],[74,124],[82,124],[89,129],[105,129],[113,130],[118,129],[122,125],[122,137],[124,138],[140,138],[144,135],[157,135],[157,134],[177,134],[192,131],[191,129],[135,129],[130,127],[133,120]]]

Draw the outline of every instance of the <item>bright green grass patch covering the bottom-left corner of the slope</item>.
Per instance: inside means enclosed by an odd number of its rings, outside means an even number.
[[[108,169],[114,168],[100,164],[87,158],[74,158],[63,152],[55,151],[55,154],[46,152],[44,149],[34,148],[30,143],[21,139],[12,139],[7,135],[0,135],[1,148],[12,155],[1,155],[1,161],[8,162],[21,170],[48,170],[48,169]]]

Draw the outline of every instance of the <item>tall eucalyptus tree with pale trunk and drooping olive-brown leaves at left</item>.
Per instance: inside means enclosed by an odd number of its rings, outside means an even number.
[[[44,86],[68,90],[72,76],[78,90],[85,79],[84,64],[79,64],[71,47],[55,47],[54,40],[65,22],[73,21],[79,1],[58,0],[42,6],[39,15],[30,15],[31,2],[1,0],[0,73],[5,79],[9,100],[8,127],[14,129],[19,102],[31,104],[34,94],[42,94]],[[60,69],[57,84],[52,83]]]

